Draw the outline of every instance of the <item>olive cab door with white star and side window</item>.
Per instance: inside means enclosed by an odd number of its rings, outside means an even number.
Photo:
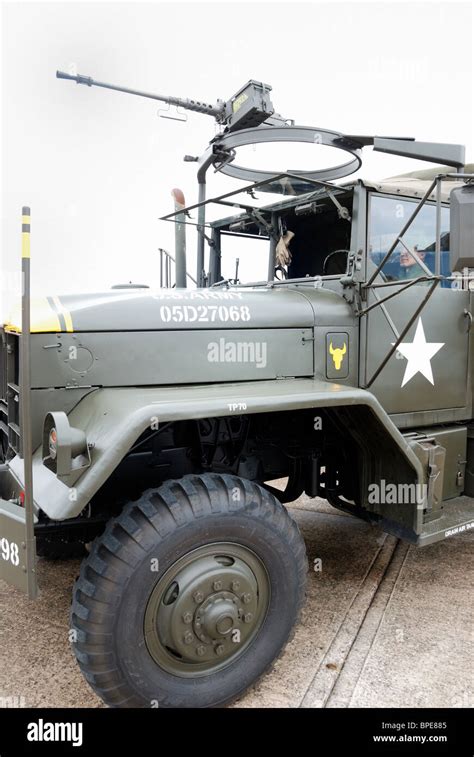
[[[367,224],[368,276],[399,235],[416,207],[416,200],[369,193]],[[403,236],[374,284],[370,306],[395,296],[362,318],[365,382],[388,413],[416,413],[402,425],[416,425],[467,417],[469,292],[443,280],[416,315],[397,352],[377,371],[398,336],[429,294],[431,282],[420,281],[405,291],[404,284],[425,276],[417,262],[435,273],[436,206],[425,204]],[[414,251],[415,255],[411,255]],[[441,211],[441,270],[449,270],[449,208]],[[393,286],[390,282],[394,282]],[[466,414],[462,410],[466,408]],[[432,411],[428,412],[427,411]],[[442,411],[442,412],[440,412]]]

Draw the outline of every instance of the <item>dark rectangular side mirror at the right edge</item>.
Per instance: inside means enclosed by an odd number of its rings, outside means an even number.
[[[474,185],[465,184],[450,194],[451,270],[474,268]]]

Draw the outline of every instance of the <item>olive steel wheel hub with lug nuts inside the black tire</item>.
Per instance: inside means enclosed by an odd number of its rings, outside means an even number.
[[[248,647],[269,599],[267,572],[250,549],[218,542],[193,550],[151,593],[144,622],[148,651],[174,675],[209,675]]]

